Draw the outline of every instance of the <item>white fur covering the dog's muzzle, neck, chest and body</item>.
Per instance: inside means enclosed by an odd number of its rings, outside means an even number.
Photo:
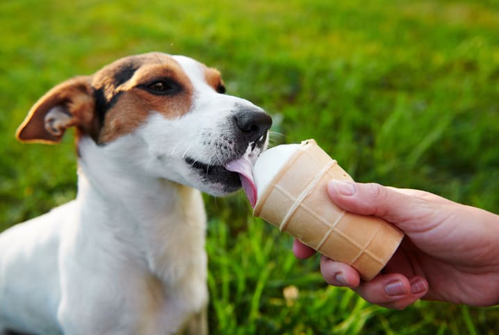
[[[231,140],[227,124],[236,111],[261,110],[216,92],[195,60],[147,57],[136,73],[149,58],[180,65],[176,71],[193,87],[187,113],[147,111],[133,131],[104,144],[80,131],[76,199],[0,234],[0,334],[206,333],[206,218],[199,190],[224,195],[234,189],[207,180],[186,157],[208,165],[237,158],[236,145],[251,143]],[[45,117],[50,136],[71,125],[67,115],[51,107]]]

